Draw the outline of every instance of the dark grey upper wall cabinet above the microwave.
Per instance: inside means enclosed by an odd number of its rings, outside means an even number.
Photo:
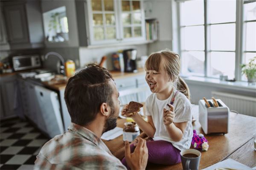
[[[11,49],[44,47],[40,1],[4,1],[3,11]]]

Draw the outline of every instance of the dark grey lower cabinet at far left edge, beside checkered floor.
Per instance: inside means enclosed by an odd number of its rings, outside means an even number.
[[[20,108],[16,75],[0,77],[1,119],[16,116]]]

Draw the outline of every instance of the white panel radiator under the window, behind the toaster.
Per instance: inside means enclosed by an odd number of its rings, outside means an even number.
[[[256,97],[212,91],[215,99],[221,99],[230,111],[256,117]]]

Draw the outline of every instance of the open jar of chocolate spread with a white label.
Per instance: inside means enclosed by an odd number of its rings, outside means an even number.
[[[140,135],[140,129],[135,122],[125,122],[123,129],[123,141],[132,142]]]

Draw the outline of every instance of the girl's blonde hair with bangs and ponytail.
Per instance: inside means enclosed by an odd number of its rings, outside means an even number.
[[[174,82],[175,88],[190,99],[189,87],[180,74],[180,56],[172,51],[163,50],[150,54],[146,63],[146,70],[160,70],[160,65],[167,71],[169,78]]]

